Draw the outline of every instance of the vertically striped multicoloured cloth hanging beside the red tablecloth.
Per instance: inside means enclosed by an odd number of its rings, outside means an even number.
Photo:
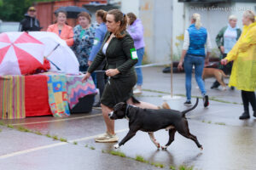
[[[0,77],[0,119],[25,117],[24,76]]]

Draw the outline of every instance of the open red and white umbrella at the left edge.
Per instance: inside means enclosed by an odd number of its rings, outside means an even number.
[[[44,64],[44,44],[26,32],[0,34],[0,75],[26,75]]]

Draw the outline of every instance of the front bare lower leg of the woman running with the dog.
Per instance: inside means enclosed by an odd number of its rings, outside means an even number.
[[[102,115],[107,126],[107,132],[110,134],[114,134],[114,121],[108,117],[108,113],[110,113],[111,111],[113,111],[113,109],[109,108],[107,105],[102,104]]]

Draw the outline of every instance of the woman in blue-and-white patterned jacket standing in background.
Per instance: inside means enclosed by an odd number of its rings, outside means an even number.
[[[82,12],[78,17],[79,25],[73,28],[73,51],[79,59],[79,71],[87,71],[90,50],[95,36],[95,28],[90,24],[90,14]]]

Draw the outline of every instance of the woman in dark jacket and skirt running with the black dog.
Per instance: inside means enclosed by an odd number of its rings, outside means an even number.
[[[113,106],[119,102],[127,102],[142,108],[158,109],[156,105],[139,102],[133,97],[132,88],[137,82],[134,65],[137,63],[137,52],[132,37],[126,30],[127,18],[118,9],[108,11],[108,32],[102,42],[101,50],[84,75],[83,81],[87,80],[93,71],[107,60],[106,75],[110,77],[105,85],[101,103],[107,133],[96,137],[96,142],[116,142],[118,137],[114,133],[114,122],[108,117],[113,111]]]

